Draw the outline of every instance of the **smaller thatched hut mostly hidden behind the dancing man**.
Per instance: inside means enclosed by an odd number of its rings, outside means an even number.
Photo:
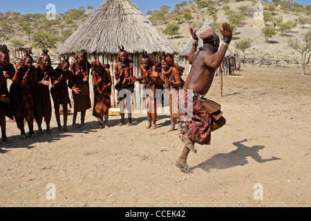
[[[203,26],[200,28],[200,30],[197,30],[196,35],[200,35],[202,32],[204,32],[205,30],[211,28],[211,26],[209,26],[209,19],[205,20],[205,23],[203,24]],[[185,75],[188,75],[191,69],[191,65],[189,65],[188,63],[188,55],[192,49],[192,44],[194,44],[194,39],[192,39],[185,45],[184,48],[182,48],[182,50],[180,50],[179,54],[176,56],[176,61],[178,61],[178,64],[180,66],[185,67]],[[220,39],[220,46],[222,44],[222,40]],[[198,41],[198,48],[203,46],[203,41],[199,40]],[[234,52],[232,52],[231,50],[227,50],[226,55],[225,55],[225,59],[229,59],[230,57],[235,57],[236,55],[234,54]]]

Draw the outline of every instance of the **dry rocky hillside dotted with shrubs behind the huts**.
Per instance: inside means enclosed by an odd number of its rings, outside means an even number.
[[[236,23],[234,41],[230,45],[232,51],[243,54],[235,48],[234,43],[249,38],[252,40],[252,46],[245,50],[247,57],[266,56],[298,61],[301,55],[288,47],[288,38],[297,39],[301,33],[310,31],[311,28],[310,7],[297,3],[279,6],[256,0],[196,0],[182,1],[182,3],[180,3],[181,6],[170,11],[169,8],[162,6],[160,11],[147,13],[151,22],[159,30],[164,31],[169,23],[178,24],[178,32],[167,37],[180,50],[191,39],[189,27],[199,29],[206,19],[210,19],[211,26],[216,29],[225,21],[234,21]],[[265,21],[254,19],[254,14],[258,12],[265,15]],[[44,41],[38,43],[40,37],[41,39],[48,38],[48,41],[52,41],[49,43],[49,48],[50,53],[53,53],[55,48],[62,44],[90,14],[91,11],[86,11],[84,8],[73,9],[57,15],[54,21],[48,21],[46,15],[41,14],[0,13],[0,43],[8,45],[9,48],[32,47],[35,54],[39,55],[42,44],[45,44]],[[278,21],[278,19],[281,20]],[[286,24],[290,24],[291,27],[282,29],[281,27]],[[268,40],[265,39],[261,33],[262,28],[265,27],[274,27],[276,35]],[[43,30],[46,35],[38,37],[37,30]]]

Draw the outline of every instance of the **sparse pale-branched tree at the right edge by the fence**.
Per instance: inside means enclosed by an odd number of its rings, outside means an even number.
[[[301,62],[303,66],[303,75],[307,66],[306,57],[311,52],[311,31],[301,33],[300,38],[291,38],[288,40],[288,47],[293,48],[301,54]]]

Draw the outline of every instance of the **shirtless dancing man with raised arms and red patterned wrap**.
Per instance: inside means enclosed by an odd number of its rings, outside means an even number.
[[[189,54],[189,63],[192,64],[191,71],[185,83],[185,95],[180,97],[187,113],[192,113],[191,117],[185,114],[182,116],[186,125],[186,130],[180,135],[180,140],[185,144],[182,155],[176,161],[176,166],[191,173],[187,164],[189,152],[196,153],[195,143],[209,145],[211,142],[211,132],[216,131],[225,125],[226,120],[223,112],[220,111],[220,104],[206,99],[204,96],[208,93],[214,79],[216,69],[220,66],[228,46],[232,39],[233,27],[229,23],[223,23],[223,29],[219,29],[223,35],[223,46],[219,48],[220,39],[216,32],[209,28],[199,36],[203,40],[203,47],[196,50],[197,42]],[[196,34],[191,30],[191,34],[196,39]],[[219,48],[219,50],[218,50]],[[189,99],[187,90],[191,90],[193,97]],[[192,103],[190,105],[190,103]]]

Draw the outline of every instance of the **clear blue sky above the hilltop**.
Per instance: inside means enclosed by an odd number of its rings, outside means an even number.
[[[146,14],[147,10],[159,10],[161,6],[166,5],[170,6],[171,9],[175,8],[176,3],[180,3],[183,0],[131,0],[136,6],[142,11],[142,13]],[[311,0],[295,0],[301,4],[311,4]],[[0,4],[0,12],[7,12],[8,10],[21,12],[21,14],[26,13],[42,13],[48,12],[46,6],[48,3],[53,3],[56,6],[56,13],[64,13],[66,10],[71,8],[79,8],[80,6],[94,6],[97,8],[104,0],[28,0],[27,3],[25,0],[10,0],[4,1],[1,0]]]

